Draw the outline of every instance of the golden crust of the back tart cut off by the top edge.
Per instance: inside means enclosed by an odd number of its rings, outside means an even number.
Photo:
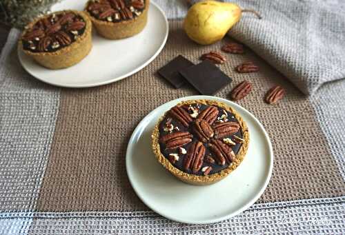
[[[88,3],[86,3],[86,8]],[[150,0],[145,1],[145,8],[138,17],[120,22],[101,21],[93,17],[86,8],[85,12],[90,17],[93,25],[95,25],[96,31],[101,37],[105,37],[106,39],[124,39],[138,34],[145,28],[148,21],[148,6],[150,6]]]

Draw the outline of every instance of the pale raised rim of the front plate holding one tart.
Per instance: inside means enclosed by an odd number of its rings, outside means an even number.
[[[217,97],[217,96],[204,96],[204,95],[199,95],[199,96],[185,96],[185,97],[181,97],[178,99],[174,99],[172,101],[168,101],[166,103],[163,103],[162,105],[159,105],[157,108],[155,108],[154,110],[152,110],[151,112],[149,112],[144,119],[142,119],[137,127],[135,127],[135,130],[132,132],[132,135],[130,136],[130,140],[128,141],[128,143],[131,143],[133,141],[133,139],[135,138],[134,133],[137,132],[137,130],[139,129],[139,126],[141,125],[141,123],[144,123],[146,121],[146,119],[148,119],[148,116],[150,116],[153,112],[155,112],[155,110],[161,108],[164,105],[170,104],[170,103],[175,103],[175,102],[179,102],[179,101],[186,101],[189,99],[213,99],[213,100],[219,100],[219,101],[223,101],[223,102],[230,102],[232,105],[235,106],[235,108],[242,108],[244,110],[246,110],[245,108],[243,108],[241,105],[238,105],[237,103],[234,103],[233,101],[228,101],[226,99]],[[152,211],[156,212],[157,214],[160,214],[161,216],[164,216],[165,218],[168,218],[172,221],[177,221],[180,223],[188,223],[188,224],[194,224],[194,225],[203,225],[203,224],[209,224],[209,223],[217,223],[220,221],[225,221],[228,218],[231,218],[233,216],[237,216],[237,214],[240,214],[242,212],[244,212],[245,210],[247,210],[251,205],[253,205],[259,198],[260,196],[262,196],[262,194],[264,193],[264,191],[266,190],[268,183],[270,182],[270,178],[272,176],[272,172],[273,172],[273,147],[272,147],[272,143],[270,142],[270,138],[268,136],[268,133],[266,132],[264,126],[262,125],[262,123],[260,123],[260,121],[253,115],[251,114],[248,110],[246,110],[246,112],[248,112],[248,114],[257,122],[257,124],[259,125],[259,127],[261,127],[262,131],[264,132],[264,136],[266,138],[266,141],[268,142],[268,148],[269,148],[269,152],[270,152],[270,166],[269,166],[269,170],[268,170],[268,174],[266,176],[266,180],[264,183],[264,187],[261,188],[261,190],[259,190],[259,192],[257,192],[257,194],[255,194],[255,196],[248,202],[246,203],[246,205],[244,205],[244,207],[242,207],[241,209],[230,213],[226,216],[219,216],[218,218],[214,218],[214,219],[209,219],[206,221],[186,221],[186,220],[179,220],[178,218],[172,218],[171,216],[166,215],[164,212],[158,212],[157,210],[154,210],[152,207],[150,207],[150,205],[148,205],[148,203],[146,203],[146,201],[144,200],[144,198],[142,198],[138,192],[136,187],[133,185],[132,183],[132,179],[130,178],[130,173],[128,173],[128,152],[130,151],[130,147],[129,145],[127,145],[127,149],[126,149],[126,172],[127,172],[127,176],[128,179],[130,181],[130,185],[132,185],[133,190],[135,191],[135,194],[137,194],[137,196],[140,198],[140,200],[146,205],[148,206]]]

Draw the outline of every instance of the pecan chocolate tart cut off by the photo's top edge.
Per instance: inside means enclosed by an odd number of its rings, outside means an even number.
[[[131,37],[144,29],[149,0],[90,0],[86,12],[106,39]]]

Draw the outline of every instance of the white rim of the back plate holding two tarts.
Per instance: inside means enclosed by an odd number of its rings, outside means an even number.
[[[57,3],[57,4],[61,4],[61,2]],[[26,70],[26,72],[28,72],[35,79],[38,79],[39,81],[42,81],[43,83],[48,83],[50,85],[55,85],[55,86],[58,86],[58,87],[61,87],[61,88],[93,88],[93,87],[97,87],[97,86],[100,86],[100,85],[106,85],[106,84],[109,84],[109,83],[114,83],[115,81],[120,81],[122,79],[126,79],[128,76],[139,72],[140,70],[145,68],[149,63],[151,63],[154,59],[156,59],[156,57],[159,55],[161,50],[163,50],[164,46],[166,45],[166,41],[168,39],[169,23],[168,23],[168,19],[166,18],[166,14],[164,13],[163,10],[161,10],[161,8],[157,5],[157,3],[150,1],[150,4],[152,4],[152,6],[155,6],[155,8],[157,8],[159,10],[159,12],[161,12],[161,14],[163,15],[164,22],[166,23],[166,32],[165,32],[166,35],[164,36],[163,43],[161,43],[161,45],[159,46],[157,52],[155,52],[155,54],[153,54],[152,57],[150,57],[150,59],[145,61],[141,66],[139,66],[135,70],[132,70],[131,72],[128,72],[127,74],[124,74],[122,76],[118,76],[115,79],[110,79],[108,81],[102,81],[102,82],[99,82],[99,83],[88,83],[88,84],[79,84],[79,85],[63,85],[63,84],[59,84],[59,83],[51,83],[49,81],[45,81],[43,79],[40,79],[37,76],[34,76],[34,74],[32,74],[30,71],[28,71],[26,69],[26,67],[23,65],[23,55],[24,55],[23,52],[21,52],[20,50],[17,50],[17,55],[19,57],[19,61],[21,63],[21,67],[24,68],[24,70]],[[52,6],[52,9],[54,9],[54,6]]]

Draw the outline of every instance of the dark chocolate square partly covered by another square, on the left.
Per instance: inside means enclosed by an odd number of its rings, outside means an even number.
[[[173,86],[175,86],[175,88],[181,88],[181,86],[186,83],[186,80],[183,76],[181,76],[181,74],[179,74],[178,71],[193,65],[194,63],[179,55],[160,68],[158,73],[163,76],[164,79],[168,80]]]

